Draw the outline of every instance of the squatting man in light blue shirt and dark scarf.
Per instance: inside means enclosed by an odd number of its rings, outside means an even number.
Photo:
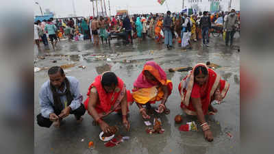
[[[60,127],[62,118],[74,114],[77,123],[81,123],[86,110],[82,104],[83,96],[79,92],[79,81],[75,77],[66,77],[60,66],[48,71],[46,81],[39,93],[41,113],[37,116],[40,127]]]

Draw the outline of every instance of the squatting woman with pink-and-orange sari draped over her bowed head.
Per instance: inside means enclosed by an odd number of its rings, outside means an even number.
[[[150,104],[155,101],[161,101],[156,112],[169,114],[170,110],[166,108],[165,103],[171,91],[172,82],[166,79],[164,70],[155,62],[147,62],[134,82],[132,90],[132,97],[140,109],[142,118],[150,118],[142,105],[147,105],[147,109],[151,109]]]

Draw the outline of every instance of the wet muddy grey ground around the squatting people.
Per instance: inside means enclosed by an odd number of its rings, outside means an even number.
[[[137,40],[134,40],[133,45],[127,46],[121,41],[112,40],[110,47],[105,45],[101,48],[92,47],[88,40],[80,42],[62,40],[58,42],[58,51],[50,49],[38,52],[35,49],[34,66],[45,69],[34,73],[35,153],[238,153],[240,143],[240,56],[238,52],[240,38],[238,35],[235,38],[235,47],[232,49],[224,46],[225,43],[221,37],[211,37],[210,47],[208,48],[203,48],[201,42],[196,42],[193,44],[193,49],[188,51],[182,51],[177,43],[175,49],[167,50],[164,45],[155,44],[150,39],[145,40],[142,44],[137,44]],[[45,59],[39,59],[40,56],[45,57]],[[53,63],[54,60],[56,63]],[[48,67],[72,64],[71,67],[67,66],[65,69],[66,75],[79,79],[80,91],[86,99],[88,86],[99,73],[105,70],[116,73],[123,79],[127,88],[131,90],[136,77],[138,77],[142,66],[147,60],[154,60],[160,64],[166,71],[168,79],[173,81],[173,92],[166,103],[171,113],[169,115],[155,113],[152,115],[162,120],[164,133],[148,134],[145,131],[147,126],[143,122],[136,104],[129,108],[130,131],[126,132],[123,127],[119,127],[119,133],[123,136],[129,136],[130,139],[112,148],[106,148],[103,142],[99,140],[101,130],[99,126],[92,125],[92,118],[87,113],[84,115],[83,123],[79,125],[77,125],[73,115],[64,119],[64,124],[60,129],[55,129],[55,127],[47,129],[37,125],[36,115],[40,113],[38,92],[40,86],[48,79]],[[183,116],[182,124],[192,120],[197,121],[197,118],[186,116],[179,107],[178,85],[187,73],[169,73],[169,68],[194,66],[199,62],[206,63],[207,61],[221,65],[221,68],[216,69],[216,73],[219,73],[230,84],[229,92],[224,99],[225,102],[221,105],[214,105],[219,112],[214,116],[207,117],[214,136],[213,142],[207,142],[203,139],[201,129],[198,132],[178,130],[179,125],[174,122],[174,117],[177,114]],[[79,68],[81,65],[86,66],[86,68]],[[156,103],[153,106],[157,107],[158,104]],[[111,114],[104,120],[110,125],[120,125],[121,116]],[[231,133],[233,138],[229,138],[227,132]],[[84,139],[84,142],[82,142],[82,139]],[[88,150],[88,142],[90,141],[95,143],[95,149]]]

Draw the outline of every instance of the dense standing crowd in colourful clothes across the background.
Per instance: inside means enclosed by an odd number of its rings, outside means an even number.
[[[40,50],[40,41],[48,45],[47,37],[51,41],[53,50],[60,38],[67,37],[69,41],[90,40],[95,46],[110,44],[111,36],[123,38],[125,44],[133,43],[138,38],[138,43],[151,38],[158,44],[163,43],[168,49],[178,42],[183,49],[192,49],[192,42],[203,40],[202,45],[208,47],[210,31],[220,27],[225,31],[225,44],[233,45],[233,38],[237,24],[240,22],[240,13],[231,12],[199,12],[199,14],[172,13],[166,14],[134,14],[128,16],[66,18],[48,21],[36,21],[34,24],[34,40]],[[214,26],[212,26],[214,25]],[[100,43],[101,38],[101,43]],[[53,42],[54,40],[54,42]]]

